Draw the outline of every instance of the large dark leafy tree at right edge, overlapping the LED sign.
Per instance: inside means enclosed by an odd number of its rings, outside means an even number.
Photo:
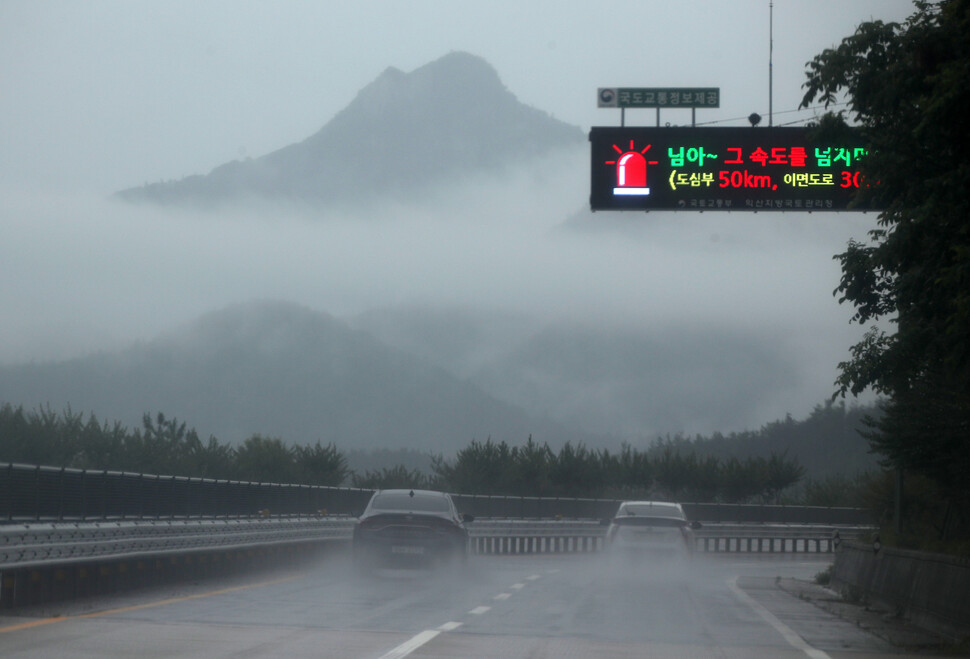
[[[845,95],[869,147],[862,168],[874,185],[862,196],[884,209],[867,242],[836,256],[836,294],[871,327],[839,365],[838,392],[884,395],[873,449],[967,511],[970,0],[915,7],[905,23],[864,23],[809,62],[803,105]]]

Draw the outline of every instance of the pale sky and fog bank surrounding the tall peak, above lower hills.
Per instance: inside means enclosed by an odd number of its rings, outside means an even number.
[[[908,0],[775,0],[774,123],[813,114],[794,110],[815,54],[862,21],[910,13]],[[584,130],[619,123],[596,108],[601,86],[720,87],[722,107],[699,123],[769,110],[768,0],[0,0],[0,363],[118,348],[269,297],[338,316],[481,305],[551,322],[723,326],[801,362],[804,388],[752,401],[755,424],[831,393],[860,333],[832,297],[831,257],[872,214],[654,213],[564,231],[588,206],[585,147],[434,210],[365,222],[106,200],[302,140],[388,66],[453,50]]]

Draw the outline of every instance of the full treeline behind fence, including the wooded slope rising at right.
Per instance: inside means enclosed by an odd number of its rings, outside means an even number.
[[[259,434],[233,445],[211,436],[203,441],[186,422],[162,413],[145,414],[140,428],[129,429],[71,409],[7,403],[0,406],[0,462],[468,494],[860,505],[860,483],[872,478],[866,474],[875,463],[866,460],[857,429],[873,412],[827,404],[803,421],[789,416],[758,431],[664,437],[613,450],[572,442],[553,448],[531,436],[521,445],[473,439],[444,456],[407,449],[345,452]],[[840,450],[827,436],[855,439],[842,441]],[[802,455],[811,456],[809,466]]]

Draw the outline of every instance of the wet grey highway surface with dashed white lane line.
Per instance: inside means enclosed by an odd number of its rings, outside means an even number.
[[[355,574],[348,557],[0,617],[0,657],[892,656],[780,590],[824,555],[472,556],[462,570]]]

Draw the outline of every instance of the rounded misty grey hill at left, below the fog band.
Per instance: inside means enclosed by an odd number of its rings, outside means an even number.
[[[161,411],[229,442],[261,433],[449,451],[489,436],[562,434],[327,314],[278,301],[209,313],[118,353],[0,367],[0,400],[70,405],[130,426]]]

